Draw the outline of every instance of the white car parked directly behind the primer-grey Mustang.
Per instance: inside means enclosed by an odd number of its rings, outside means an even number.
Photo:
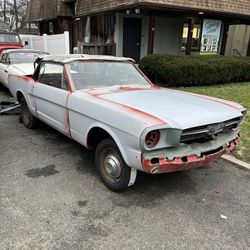
[[[0,82],[8,88],[8,76],[33,75],[34,62],[47,52],[32,49],[7,49],[0,56]]]

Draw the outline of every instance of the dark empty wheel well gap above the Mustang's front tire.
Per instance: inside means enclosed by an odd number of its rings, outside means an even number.
[[[104,129],[94,127],[89,131],[87,138],[87,146],[89,149],[95,149],[101,141],[107,138],[113,139],[112,136]]]

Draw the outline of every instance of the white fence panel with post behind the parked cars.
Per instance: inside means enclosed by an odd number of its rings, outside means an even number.
[[[70,54],[70,41],[68,31],[65,31],[63,34],[59,35],[20,35],[20,37],[23,44],[25,43],[25,41],[29,43],[28,45],[24,46],[24,48],[46,51],[51,55]]]

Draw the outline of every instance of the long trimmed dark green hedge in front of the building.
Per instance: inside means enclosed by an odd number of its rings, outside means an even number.
[[[156,84],[201,86],[250,81],[250,58],[147,55],[139,62]]]

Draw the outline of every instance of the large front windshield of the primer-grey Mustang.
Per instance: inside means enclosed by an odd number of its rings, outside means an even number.
[[[136,67],[128,62],[76,61],[68,64],[76,90],[109,86],[151,86]]]

